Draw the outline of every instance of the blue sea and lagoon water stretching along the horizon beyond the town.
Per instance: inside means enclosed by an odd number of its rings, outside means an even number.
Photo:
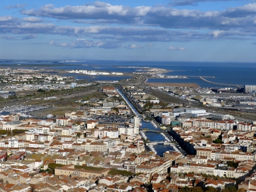
[[[141,72],[140,68],[118,68],[117,66],[151,67],[162,68],[170,72],[164,73],[171,76],[187,76],[187,78],[149,78],[147,82],[181,82],[196,83],[200,87],[232,87],[225,85],[210,84],[201,80],[199,77],[189,76],[210,76],[205,78],[208,81],[220,84],[232,85],[256,85],[256,62],[163,62],[163,61],[18,61],[0,60],[0,68],[28,68],[28,69],[59,69],[59,70],[99,70],[104,72]],[[71,75],[67,73],[66,75]],[[72,74],[77,79],[88,81],[118,81],[129,76],[110,77],[110,76],[84,76]]]

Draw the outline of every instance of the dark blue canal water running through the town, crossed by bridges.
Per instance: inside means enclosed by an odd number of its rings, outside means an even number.
[[[116,89],[119,91],[120,94],[122,94],[123,98],[125,98],[125,101],[129,103],[130,107],[133,108],[133,110],[136,112],[138,116],[140,116],[139,112],[136,110],[136,108],[128,101],[128,99],[125,97],[125,95],[122,93],[121,90],[119,90],[117,87]],[[148,130],[161,130],[159,127],[155,127],[154,124],[151,122],[146,122],[144,120],[141,120],[142,126],[141,128],[147,128]],[[147,133],[145,132],[145,135],[150,141],[164,141],[164,136],[160,133]],[[171,145],[154,145],[155,151],[157,155],[163,156],[163,153],[166,151],[174,151],[174,148],[171,147]]]

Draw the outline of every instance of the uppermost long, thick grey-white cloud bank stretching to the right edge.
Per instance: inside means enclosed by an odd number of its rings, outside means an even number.
[[[210,0],[184,0],[184,2],[189,1],[193,3]],[[175,2],[183,2],[183,0]],[[162,28],[230,30],[234,27],[255,27],[256,3],[231,7],[224,11],[200,11],[174,9],[165,6],[129,7],[95,2],[81,6],[68,5],[63,7],[55,7],[50,4],[39,9],[22,10],[20,12],[30,16],[68,19],[77,23],[113,23]]]

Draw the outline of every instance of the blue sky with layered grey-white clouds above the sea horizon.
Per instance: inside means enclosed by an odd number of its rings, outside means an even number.
[[[0,59],[256,62],[256,0],[12,0],[0,9]]]

